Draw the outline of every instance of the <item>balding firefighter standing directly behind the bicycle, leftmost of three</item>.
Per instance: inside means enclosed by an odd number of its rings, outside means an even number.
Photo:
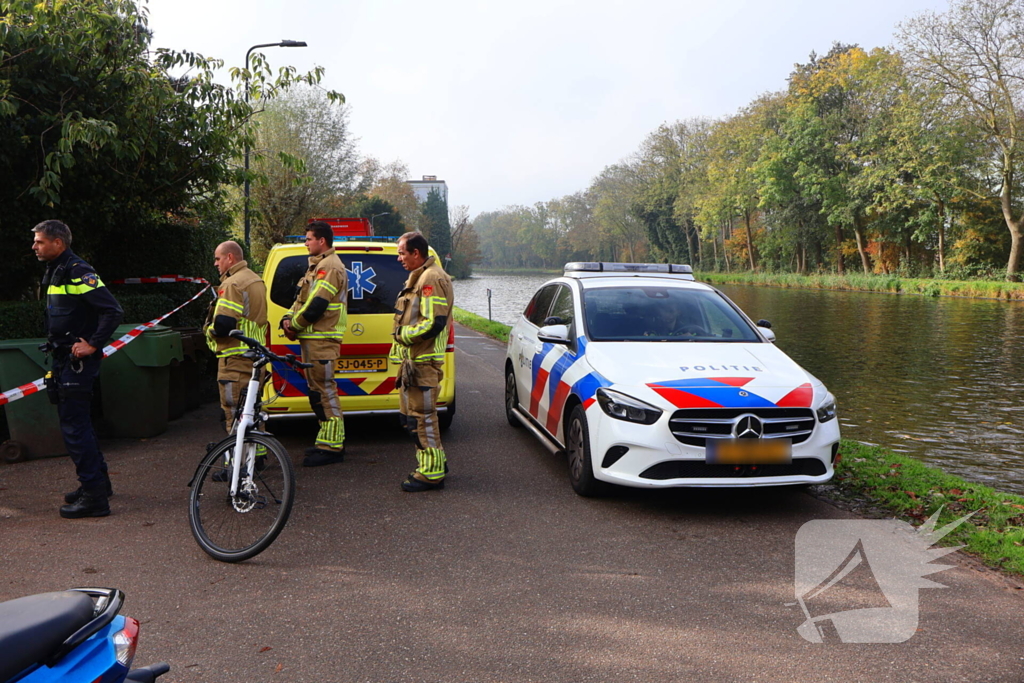
[[[220,407],[224,411],[224,427],[230,433],[234,409],[249,386],[253,364],[242,357],[249,347],[228,334],[231,330],[242,330],[246,337],[266,344],[266,285],[249,269],[237,242],[220,244],[213,251],[213,263],[220,272],[220,287],[207,321],[206,335],[217,353]]]

